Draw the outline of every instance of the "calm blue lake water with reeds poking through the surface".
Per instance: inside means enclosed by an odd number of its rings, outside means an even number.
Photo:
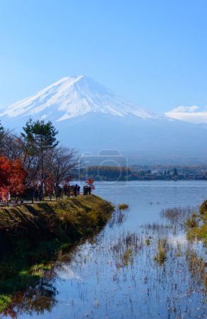
[[[189,246],[179,223],[162,220],[160,212],[198,209],[207,181],[96,182],[94,193],[129,204],[129,211],[115,213],[93,239],[60,256],[15,308],[18,318],[206,318],[203,282],[187,259],[189,247],[202,254],[202,244]],[[170,247],[163,264],[153,258],[158,238]]]

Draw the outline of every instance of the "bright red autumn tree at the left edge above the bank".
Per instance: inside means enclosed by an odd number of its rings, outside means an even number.
[[[26,177],[20,159],[11,161],[6,157],[0,157],[0,191],[8,194],[21,194],[24,191],[23,180]]]

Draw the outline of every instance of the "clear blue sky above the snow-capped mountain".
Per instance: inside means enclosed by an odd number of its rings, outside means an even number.
[[[206,0],[0,0],[0,106],[85,74],[150,111],[207,106]]]

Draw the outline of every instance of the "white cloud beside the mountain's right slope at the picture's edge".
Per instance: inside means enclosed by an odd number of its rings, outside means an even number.
[[[199,106],[178,106],[165,112],[165,116],[190,123],[207,123],[207,109]]]

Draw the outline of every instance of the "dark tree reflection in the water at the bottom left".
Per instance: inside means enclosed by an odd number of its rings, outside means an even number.
[[[20,313],[29,313],[31,315],[35,312],[40,315],[45,310],[51,311],[52,307],[57,304],[56,295],[57,289],[42,279],[37,286],[17,293],[11,307],[4,310],[4,315],[18,318]]]

